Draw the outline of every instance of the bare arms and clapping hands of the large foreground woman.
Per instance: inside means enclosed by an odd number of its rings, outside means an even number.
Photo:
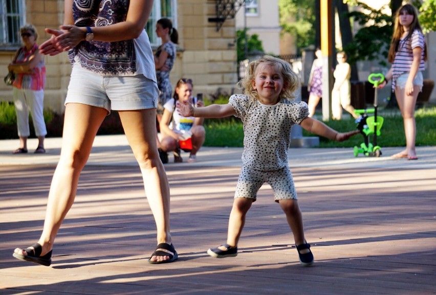
[[[139,37],[144,30],[153,5],[152,0],[130,0],[125,21],[118,24],[93,27],[95,41],[116,42]],[[41,44],[42,54],[56,55],[68,51],[83,41],[86,28],[74,26],[73,1],[65,1],[64,25],[60,30],[46,29],[52,38]]]

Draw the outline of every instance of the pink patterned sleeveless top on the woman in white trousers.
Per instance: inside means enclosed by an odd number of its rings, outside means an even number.
[[[31,50],[27,51],[26,47],[20,48],[15,63],[24,63],[38,49],[34,44]],[[13,86],[18,89],[43,90],[46,83],[46,65],[44,60],[39,61],[32,69],[31,73],[16,73]]]

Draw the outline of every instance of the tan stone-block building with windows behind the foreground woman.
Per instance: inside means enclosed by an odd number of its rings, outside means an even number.
[[[159,46],[156,21],[161,17],[173,20],[179,31],[179,46],[175,67],[171,71],[174,86],[180,78],[194,81],[194,94],[204,96],[217,91],[231,94],[237,82],[235,20],[228,18],[217,29],[217,2],[211,0],[155,1],[146,30],[152,47]],[[37,43],[50,38],[44,28],[58,28],[63,22],[63,0],[0,0],[3,39],[0,40],[0,73],[6,76],[21,43],[19,28],[33,24],[38,31]],[[215,19],[215,20],[214,20]],[[71,65],[67,53],[46,56],[47,82],[45,107],[63,112],[70,81]],[[0,84],[0,101],[12,101],[12,89]]]

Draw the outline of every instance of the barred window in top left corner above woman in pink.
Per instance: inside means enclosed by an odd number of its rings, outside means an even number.
[[[0,0],[0,45],[21,44],[19,28],[25,24],[25,0]]]

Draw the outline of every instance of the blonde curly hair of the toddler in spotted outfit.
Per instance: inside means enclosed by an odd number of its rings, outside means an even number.
[[[280,72],[281,76],[283,77],[284,87],[281,90],[279,99],[295,99],[295,92],[301,84],[300,78],[297,74],[295,74],[294,71],[292,71],[289,62],[270,55],[263,55],[258,59],[250,62],[247,67],[245,77],[238,82],[238,86],[244,90],[244,94],[248,95],[251,98],[259,100],[259,95],[257,93],[257,90],[253,88],[252,81],[256,77],[257,66],[263,62],[276,67],[276,70]]]

